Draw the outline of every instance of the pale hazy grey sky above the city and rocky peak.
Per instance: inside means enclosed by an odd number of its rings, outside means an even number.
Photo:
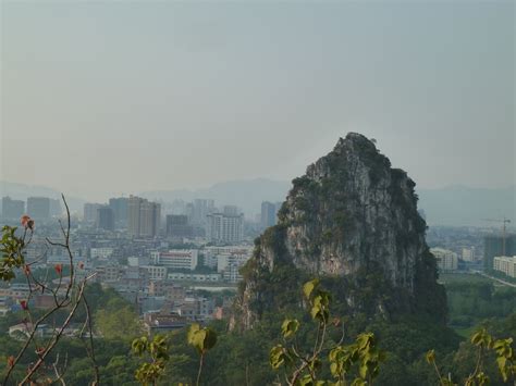
[[[95,199],[292,179],[353,130],[422,187],[516,180],[513,1],[1,12],[0,179]]]

